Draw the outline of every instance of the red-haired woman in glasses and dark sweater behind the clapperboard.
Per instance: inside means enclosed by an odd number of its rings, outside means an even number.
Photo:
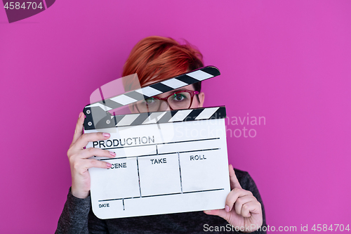
[[[147,37],[134,46],[124,65],[123,77],[137,73],[140,86],[147,86],[199,67],[204,67],[202,56],[192,46],[180,45],[170,38]],[[126,90],[135,89],[136,85],[128,80],[124,82]],[[174,98],[182,98],[182,100],[187,98],[187,103],[177,106],[173,104]],[[152,103],[156,103],[157,110],[201,108],[204,98],[201,82],[199,82],[150,98],[146,100],[146,105],[142,102],[131,105],[130,108],[132,112],[144,112],[152,107]],[[227,233],[228,230],[240,228],[244,233],[265,233],[257,230],[260,226],[265,226],[265,212],[258,189],[246,171],[235,169],[234,172],[232,165],[229,166],[232,190],[227,195],[225,209],[123,219],[98,219],[91,211],[88,169],[91,167],[107,169],[111,164],[88,158],[93,155],[113,158],[116,155],[114,152],[98,148],[84,149],[89,141],[107,140],[110,134],[83,134],[83,123],[84,114],[81,112],[72,144],[67,151],[72,187],[69,189],[56,233],[203,233],[204,231]]]

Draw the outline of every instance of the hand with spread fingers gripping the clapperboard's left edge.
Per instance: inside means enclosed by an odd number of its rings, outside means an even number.
[[[69,166],[72,174],[71,193],[74,197],[86,198],[90,191],[90,175],[88,169],[91,167],[110,168],[112,165],[108,162],[88,159],[89,157],[115,157],[114,152],[101,150],[98,148],[87,148],[89,141],[101,141],[110,138],[110,134],[91,133],[83,134],[84,113],[79,113],[76,130],[74,131],[73,141],[67,151]]]

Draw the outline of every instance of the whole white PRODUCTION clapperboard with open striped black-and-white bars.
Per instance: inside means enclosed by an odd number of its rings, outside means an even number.
[[[128,115],[107,112],[218,74],[216,67],[203,67],[86,105],[84,132],[111,135],[86,148],[117,154],[112,159],[95,157],[110,162],[110,169],[89,169],[95,216],[112,219],[225,207],[230,181],[224,106]]]

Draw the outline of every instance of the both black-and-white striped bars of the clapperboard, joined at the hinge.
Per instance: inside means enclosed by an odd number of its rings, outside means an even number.
[[[180,74],[176,77],[166,79],[145,86],[140,89],[128,91],[112,98],[100,100],[96,103],[88,104],[84,107],[84,129],[106,129],[119,126],[135,126],[145,123],[166,123],[166,122],[184,122],[200,119],[220,119],[226,117],[225,106],[214,108],[195,108],[187,110],[169,110],[164,112],[145,112],[136,115],[112,115],[109,111],[121,108],[125,105],[135,103],[139,100],[145,100],[161,93],[166,93],[174,89],[181,88],[190,84],[204,81],[220,75],[217,67],[206,66],[191,72]],[[164,115],[167,112],[170,115]],[[131,118],[133,115],[133,118]],[[145,122],[145,119],[149,121]],[[156,121],[152,121],[156,119]],[[150,121],[151,120],[151,121]]]

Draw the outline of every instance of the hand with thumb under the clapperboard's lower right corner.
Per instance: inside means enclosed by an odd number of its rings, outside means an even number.
[[[241,228],[243,233],[251,233],[262,226],[261,204],[250,191],[241,188],[232,165],[229,165],[229,176],[232,191],[225,200],[225,209],[213,209],[204,212],[222,217],[234,228]]]

